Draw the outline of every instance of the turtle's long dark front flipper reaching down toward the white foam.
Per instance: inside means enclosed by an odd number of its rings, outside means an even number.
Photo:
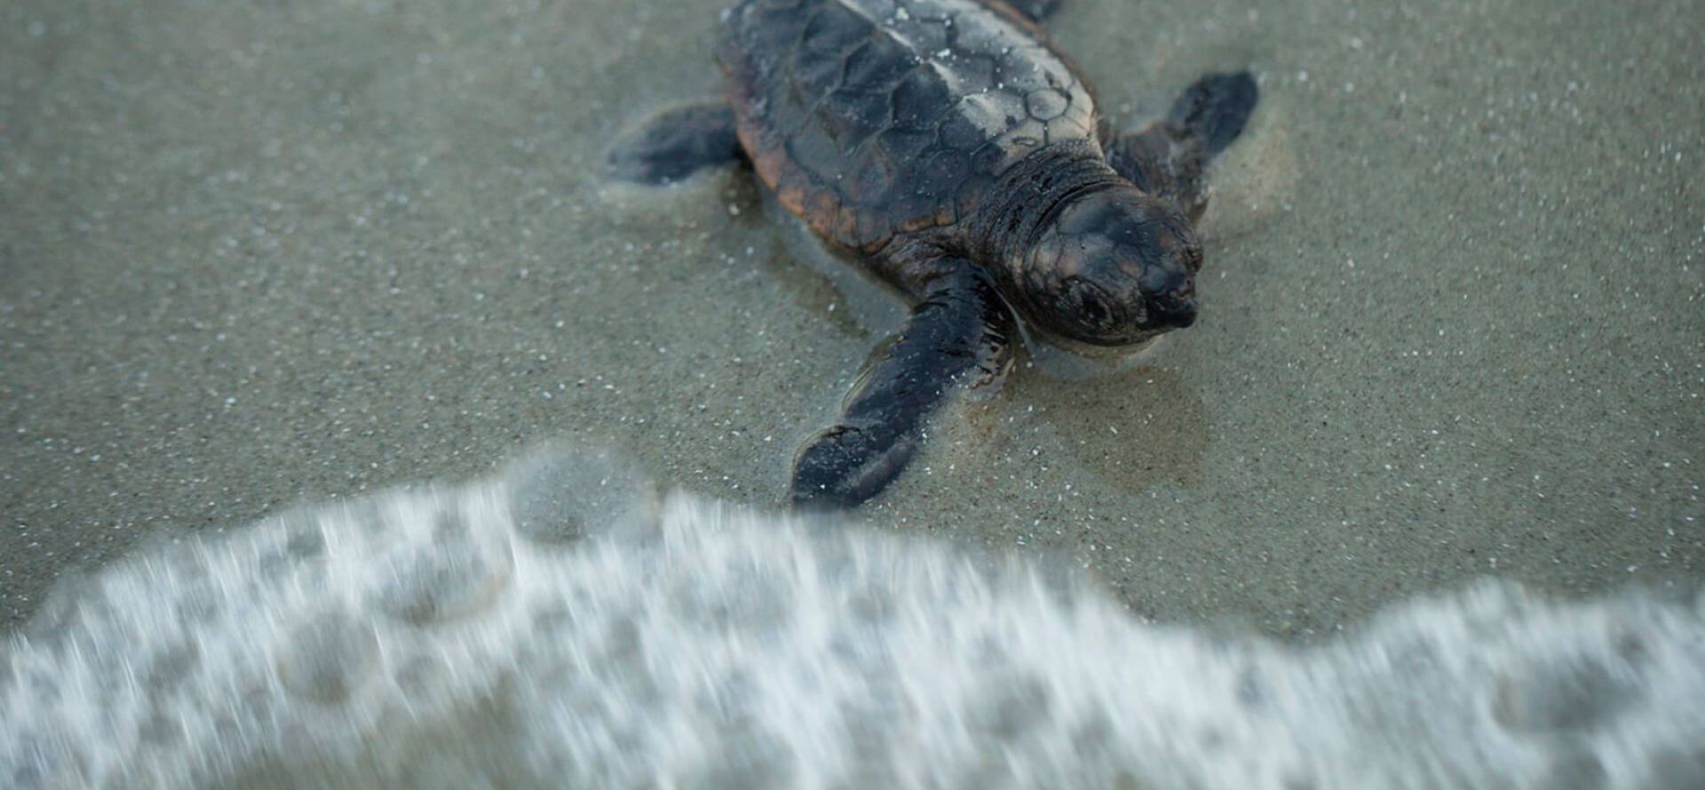
[[[876,495],[910,461],[924,421],[941,404],[1006,375],[1013,315],[984,272],[963,260],[951,264],[866,364],[841,422],[795,456],[796,506],[851,507]]]

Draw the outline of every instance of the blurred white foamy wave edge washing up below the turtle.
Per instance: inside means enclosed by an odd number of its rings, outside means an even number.
[[[546,456],[63,591],[0,649],[0,785],[1700,787],[1702,610],[1488,582],[1292,649]]]

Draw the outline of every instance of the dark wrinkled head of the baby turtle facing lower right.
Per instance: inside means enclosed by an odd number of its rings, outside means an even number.
[[[1171,204],[1137,189],[1067,203],[1014,272],[1030,320],[1093,346],[1125,346],[1195,322],[1202,242]]]

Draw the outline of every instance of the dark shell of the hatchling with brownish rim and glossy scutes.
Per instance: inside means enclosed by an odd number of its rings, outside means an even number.
[[[1101,146],[1074,65],[999,2],[747,0],[718,60],[757,175],[852,250],[960,223],[1038,148]]]

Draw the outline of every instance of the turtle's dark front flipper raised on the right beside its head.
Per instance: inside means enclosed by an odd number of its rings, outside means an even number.
[[[1257,100],[1260,89],[1248,72],[1205,75],[1178,95],[1166,119],[1118,138],[1108,163],[1137,189],[1199,220],[1207,209],[1202,170],[1243,133]]]

